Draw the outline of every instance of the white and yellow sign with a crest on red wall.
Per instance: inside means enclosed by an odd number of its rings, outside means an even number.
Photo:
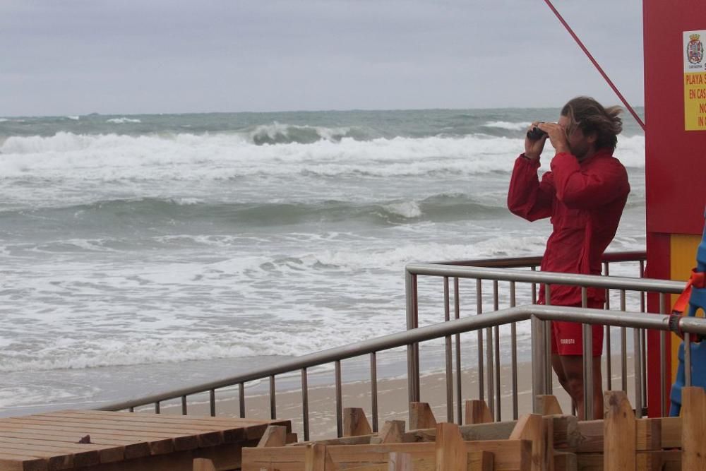
[[[684,32],[684,127],[706,131],[706,30]]]

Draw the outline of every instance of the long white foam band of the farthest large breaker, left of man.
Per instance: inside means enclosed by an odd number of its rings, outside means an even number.
[[[507,138],[379,138],[253,145],[242,136],[11,137],[0,148],[5,177],[54,179],[229,179],[247,175],[508,172],[521,142]]]

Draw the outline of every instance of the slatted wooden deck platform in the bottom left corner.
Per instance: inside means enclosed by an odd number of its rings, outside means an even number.
[[[232,470],[270,424],[291,432],[288,420],[90,410],[9,417],[0,419],[0,471],[191,471],[194,458]]]

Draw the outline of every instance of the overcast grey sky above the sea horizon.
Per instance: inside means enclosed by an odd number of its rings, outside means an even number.
[[[642,2],[554,0],[628,102]],[[2,0],[0,116],[619,104],[543,0]]]

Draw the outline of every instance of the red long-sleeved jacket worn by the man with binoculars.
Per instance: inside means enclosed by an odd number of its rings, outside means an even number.
[[[539,160],[517,157],[508,208],[530,221],[551,217],[554,230],[546,241],[542,271],[599,275],[603,252],[616,234],[630,193],[628,172],[609,149],[598,150],[583,162],[559,153],[541,183],[537,169]],[[605,292],[590,288],[588,297],[602,302]],[[539,290],[539,302],[544,303],[544,288]],[[580,287],[551,286],[551,304],[580,302]]]

